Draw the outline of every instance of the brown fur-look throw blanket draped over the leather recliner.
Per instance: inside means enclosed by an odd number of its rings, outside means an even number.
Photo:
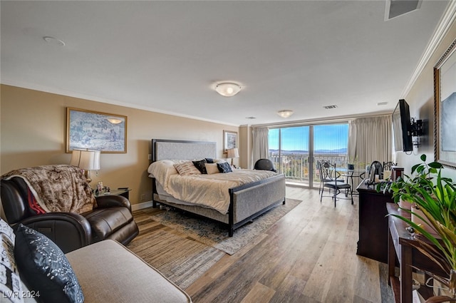
[[[42,165],[12,170],[2,179],[24,179],[38,205],[45,212],[88,212],[95,196],[81,168],[72,165]]]

